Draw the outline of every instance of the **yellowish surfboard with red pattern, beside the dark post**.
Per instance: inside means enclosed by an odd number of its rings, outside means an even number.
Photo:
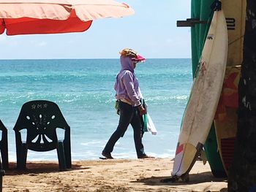
[[[214,125],[218,150],[227,173],[236,141],[238,82],[243,60],[246,1],[223,0],[222,9],[227,20],[227,69]]]

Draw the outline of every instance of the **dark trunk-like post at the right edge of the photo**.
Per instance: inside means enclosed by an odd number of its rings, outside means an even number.
[[[244,61],[238,87],[238,132],[228,191],[256,191],[256,1],[247,0]]]

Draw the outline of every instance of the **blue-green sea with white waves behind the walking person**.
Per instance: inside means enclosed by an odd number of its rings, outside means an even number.
[[[10,161],[16,161],[12,128],[22,105],[34,99],[59,105],[71,127],[72,160],[98,159],[118,123],[113,85],[119,70],[118,59],[0,60],[0,119],[8,129]],[[135,73],[158,131],[144,134],[146,153],[174,157],[192,85],[191,59],[148,59]],[[136,158],[131,127],[113,156]],[[29,150],[28,161],[35,160],[57,161],[56,150]]]

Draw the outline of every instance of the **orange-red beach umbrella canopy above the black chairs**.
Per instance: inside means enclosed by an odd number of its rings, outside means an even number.
[[[113,0],[0,0],[0,34],[82,32],[93,20],[134,14]]]

